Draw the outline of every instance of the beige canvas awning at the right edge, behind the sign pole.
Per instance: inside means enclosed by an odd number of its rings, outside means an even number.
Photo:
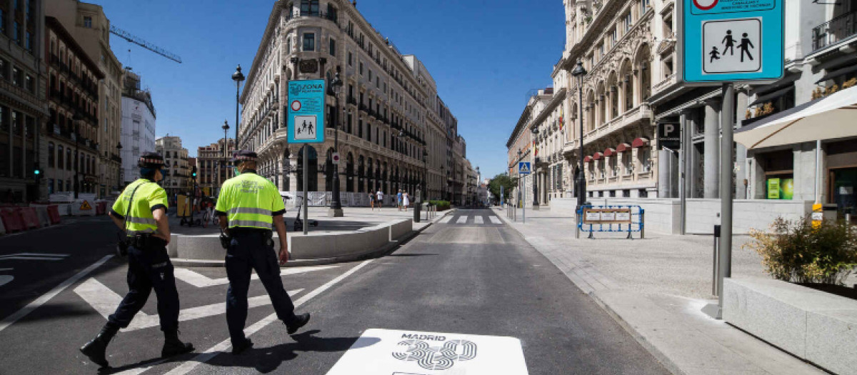
[[[857,86],[770,116],[735,132],[748,149],[857,136]]]

